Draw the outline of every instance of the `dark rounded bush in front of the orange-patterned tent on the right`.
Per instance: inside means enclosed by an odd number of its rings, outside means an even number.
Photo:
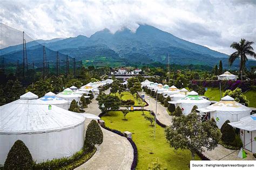
[[[222,133],[221,139],[224,141],[224,143],[231,144],[235,139],[235,130],[228,123],[230,123],[230,121],[227,120],[220,128]]]

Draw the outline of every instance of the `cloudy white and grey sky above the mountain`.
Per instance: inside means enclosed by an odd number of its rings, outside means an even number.
[[[256,0],[0,0],[0,6],[0,22],[33,39],[90,37],[105,28],[134,32],[147,24],[226,54],[234,52],[230,44],[241,38],[256,43]]]

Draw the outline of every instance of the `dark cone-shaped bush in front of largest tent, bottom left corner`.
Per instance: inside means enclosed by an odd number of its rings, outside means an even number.
[[[4,169],[32,169],[33,159],[21,140],[15,141],[4,162]]]

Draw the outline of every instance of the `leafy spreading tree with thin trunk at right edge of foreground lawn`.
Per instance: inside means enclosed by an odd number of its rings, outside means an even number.
[[[165,137],[174,149],[188,149],[194,154],[213,150],[218,146],[221,132],[213,122],[201,122],[201,117],[195,112],[187,116],[173,117],[172,125],[165,128]]]

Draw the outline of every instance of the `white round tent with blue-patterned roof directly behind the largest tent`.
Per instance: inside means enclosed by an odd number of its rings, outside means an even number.
[[[43,101],[45,104],[56,105],[57,107],[65,110],[69,110],[70,107],[70,103],[68,101],[57,97],[56,94],[52,93],[51,91],[46,93],[43,97],[39,98],[39,100]]]

